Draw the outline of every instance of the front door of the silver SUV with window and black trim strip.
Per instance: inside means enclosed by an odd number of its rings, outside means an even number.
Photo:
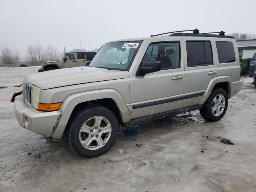
[[[160,61],[161,70],[145,76],[130,77],[132,118],[139,118],[182,108],[185,70],[180,41],[151,43],[141,61]]]

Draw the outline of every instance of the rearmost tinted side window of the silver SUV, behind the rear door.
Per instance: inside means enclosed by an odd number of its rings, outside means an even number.
[[[234,46],[232,42],[216,41],[219,63],[236,62]]]

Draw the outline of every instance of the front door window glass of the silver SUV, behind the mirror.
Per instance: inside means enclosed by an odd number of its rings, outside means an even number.
[[[142,66],[146,62],[161,62],[161,70],[180,67],[180,42],[153,43],[142,59]]]

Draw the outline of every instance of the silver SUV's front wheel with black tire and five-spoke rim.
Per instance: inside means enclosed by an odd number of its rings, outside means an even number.
[[[111,110],[100,105],[77,110],[68,128],[71,150],[88,158],[106,153],[118,136],[116,116]]]

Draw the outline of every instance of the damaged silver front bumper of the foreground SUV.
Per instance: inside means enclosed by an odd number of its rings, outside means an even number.
[[[42,112],[27,106],[23,102],[22,95],[15,97],[14,113],[20,126],[50,138],[55,132],[61,116],[61,110]]]

